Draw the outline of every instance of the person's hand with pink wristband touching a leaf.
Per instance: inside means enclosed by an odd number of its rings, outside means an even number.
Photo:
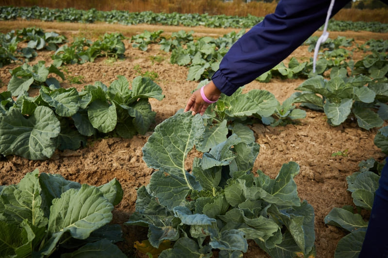
[[[221,91],[214,85],[213,81],[210,81],[203,87],[203,94],[207,100],[215,102],[221,95]],[[199,113],[201,116],[205,113],[206,108],[210,106],[211,103],[206,102],[201,96],[201,89],[196,90],[191,95],[190,99],[187,101],[184,112],[192,111],[192,115]]]

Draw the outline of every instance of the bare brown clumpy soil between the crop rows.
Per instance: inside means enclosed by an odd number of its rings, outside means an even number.
[[[56,31],[66,35],[71,41],[74,36],[86,36],[96,39],[105,32],[121,32],[125,36],[141,33],[144,30],[162,29],[165,33],[172,31],[194,30],[195,36],[210,35],[218,37],[232,29],[206,29],[185,27],[156,27],[156,26],[120,26],[106,24],[67,24],[52,22],[0,22],[0,31],[8,32],[12,29],[36,26],[45,31]],[[238,30],[236,30],[238,31]],[[338,32],[337,32],[338,33]],[[332,38],[337,37],[333,33]],[[356,43],[362,44],[370,38],[387,39],[387,34],[371,32],[340,32],[346,37],[354,37]],[[61,84],[64,88],[76,87],[78,90],[87,85],[102,81],[109,85],[118,75],[126,76],[129,81],[139,73],[155,72],[158,77],[155,82],[162,87],[165,98],[162,101],[150,100],[152,108],[157,112],[156,122],[145,136],[135,136],[131,139],[98,138],[91,139],[85,148],[77,151],[57,151],[44,161],[30,161],[19,156],[9,155],[0,158],[0,184],[15,184],[27,172],[39,169],[40,172],[58,173],[67,180],[101,185],[116,178],[122,185],[124,197],[113,212],[113,223],[123,224],[135,210],[136,189],[146,185],[153,170],[148,168],[142,159],[142,148],[153,128],[163,120],[174,115],[178,109],[184,108],[191,91],[196,88],[197,82],[187,81],[188,68],[171,64],[170,54],[151,46],[146,52],[132,48],[129,40],[126,45],[125,58],[111,61],[100,58],[94,63],[81,65],[66,65],[67,76],[81,76],[81,84],[71,83],[69,80]],[[53,52],[40,51],[38,57],[31,63],[44,60],[46,64],[52,62]],[[296,49],[291,56],[298,60],[312,57],[306,46]],[[360,57],[364,53],[359,54]],[[290,56],[290,57],[291,57]],[[287,60],[285,61],[287,62]],[[6,65],[0,68],[2,87],[0,92],[7,90],[11,78],[9,70],[19,64]],[[140,68],[140,70],[139,70]],[[268,90],[275,94],[280,101],[288,98],[304,79],[272,79],[270,83],[254,81],[246,85],[244,91],[251,89]],[[35,94],[33,90],[30,94]],[[330,126],[324,113],[306,109],[307,117],[296,124],[271,127],[262,124],[253,124],[251,129],[255,133],[256,142],[260,144],[260,153],[255,162],[253,171],[258,169],[274,178],[282,164],[295,161],[300,165],[301,172],[296,176],[299,197],[306,199],[315,211],[316,250],[318,258],[332,258],[340,238],[345,232],[338,228],[324,224],[324,217],[334,207],[352,205],[352,198],[346,191],[346,177],[358,171],[358,163],[368,158],[383,160],[384,154],[373,144],[376,129],[366,131],[357,126],[356,121],[348,120],[337,127]],[[334,152],[347,152],[346,156],[332,156]],[[196,153],[190,153],[187,166]],[[122,226],[124,241],[118,246],[128,257],[142,257],[133,248],[134,241],[146,239],[147,228]],[[269,257],[254,242],[249,242],[246,258]]]

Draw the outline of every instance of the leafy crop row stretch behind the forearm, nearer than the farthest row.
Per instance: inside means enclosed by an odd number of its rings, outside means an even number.
[[[194,41],[193,32],[180,30],[174,32],[169,39],[161,36],[162,30],[150,32],[145,31],[141,34],[133,36],[131,42],[133,47],[139,47],[146,51],[149,44],[159,44],[161,49],[168,52],[171,51],[171,63],[188,66],[188,80],[201,80],[210,78],[215,71],[218,70],[219,63],[226,54],[228,48],[233,45],[244,33],[241,30],[239,33],[230,32],[223,37],[211,38],[202,37]],[[310,37],[304,44],[309,45],[309,51],[315,46],[317,37]],[[257,78],[260,82],[269,82],[272,77],[280,78],[298,78],[310,77],[315,75],[323,75],[330,69],[350,68],[353,75],[364,74],[372,78],[381,78],[388,74],[388,57],[382,52],[385,42],[372,43],[360,46],[360,49],[372,51],[372,54],[366,56],[361,61],[350,60],[352,53],[340,46],[352,46],[353,39],[338,37],[337,39],[329,39],[322,45],[323,53],[319,56],[316,66],[316,74],[312,73],[313,60],[299,62],[296,58],[291,58],[288,67],[283,63],[279,63],[271,70],[262,74]],[[372,46],[371,46],[372,44]]]

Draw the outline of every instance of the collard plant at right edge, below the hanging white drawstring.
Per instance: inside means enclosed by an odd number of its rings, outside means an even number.
[[[383,120],[387,119],[387,80],[372,81],[367,76],[346,77],[343,69],[336,72],[332,71],[330,80],[322,76],[307,79],[296,88],[302,92],[294,102],[324,111],[327,121],[333,126],[348,117],[355,117],[358,126],[367,130],[382,126]]]

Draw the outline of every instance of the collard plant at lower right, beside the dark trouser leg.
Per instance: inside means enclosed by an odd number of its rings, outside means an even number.
[[[334,208],[326,215],[324,222],[344,229],[348,234],[339,240],[334,257],[358,257],[364,242],[368,221],[361,215],[361,210],[372,210],[375,192],[379,186],[379,174],[384,164],[379,164],[374,159],[360,162],[359,171],[346,178],[348,191],[352,193],[353,206]]]

